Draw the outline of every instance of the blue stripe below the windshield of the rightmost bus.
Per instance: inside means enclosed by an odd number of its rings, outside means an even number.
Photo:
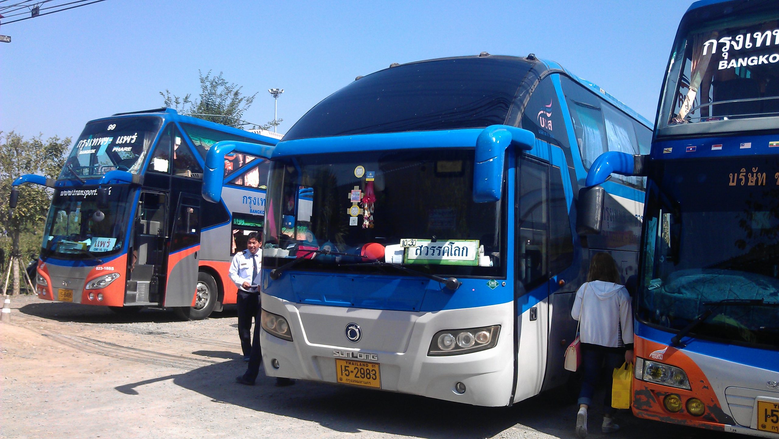
[[[675,335],[672,332],[665,332],[660,329],[652,328],[640,321],[636,321],[634,332],[642,339],[647,339],[662,345],[668,345],[671,342],[671,337]],[[687,346],[679,349],[682,352],[689,351],[700,353],[701,355],[713,356],[714,358],[721,358],[722,360],[731,361],[733,363],[760,367],[761,369],[767,369],[768,371],[777,370],[779,353],[775,350],[738,346],[726,342],[712,342],[710,340],[696,339],[689,336],[684,338],[684,342],[687,343]]]

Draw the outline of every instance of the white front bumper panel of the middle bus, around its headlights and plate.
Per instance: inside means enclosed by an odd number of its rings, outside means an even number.
[[[351,356],[347,359],[379,363],[381,390],[475,406],[509,405],[514,375],[511,303],[416,313],[301,305],[263,293],[262,304],[287,319],[293,337],[290,342],[261,332],[268,376],[336,384],[336,360]],[[345,331],[354,322],[364,335],[351,343]],[[492,325],[501,329],[491,349],[428,356],[436,332]],[[371,334],[372,328],[381,334]]]

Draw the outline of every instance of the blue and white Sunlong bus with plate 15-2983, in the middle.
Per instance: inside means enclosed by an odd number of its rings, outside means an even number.
[[[358,77],[276,146],[261,274],[266,374],[508,406],[566,382],[573,295],[594,251],[636,269],[643,179],[606,184],[601,234],[576,198],[649,123],[552,61],[442,58]]]

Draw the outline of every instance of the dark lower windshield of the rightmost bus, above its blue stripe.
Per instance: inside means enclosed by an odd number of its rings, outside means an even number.
[[[779,158],[666,161],[650,176],[638,317],[693,335],[779,348]]]

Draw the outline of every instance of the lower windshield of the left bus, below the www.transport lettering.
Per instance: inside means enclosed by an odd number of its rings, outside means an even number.
[[[96,187],[55,190],[44,227],[41,257],[101,258],[122,250],[132,203],[130,188],[126,184],[106,188],[108,204],[104,206],[98,205]]]

